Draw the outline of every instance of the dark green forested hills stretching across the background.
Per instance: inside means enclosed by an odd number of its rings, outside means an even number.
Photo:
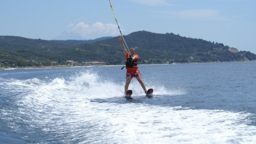
[[[135,47],[143,63],[172,62],[223,62],[256,60],[251,52],[238,51],[235,48],[188,38],[172,33],[156,34],[149,31],[137,31],[124,36],[127,45]],[[99,41],[98,41],[99,40]],[[101,61],[108,65],[121,64],[125,58],[118,37],[107,37],[93,43],[83,41],[46,41],[15,36],[0,36],[0,62],[19,65],[24,61],[57,61],[65,63],[73,60],[77,63]]]

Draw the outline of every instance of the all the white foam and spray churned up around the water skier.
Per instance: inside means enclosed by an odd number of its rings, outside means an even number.
[[[45,82],[37,78],[6,82],[22,92],[17,117],[31,131],[40,129],[60,143],[255,143],[256,127],[247,125],[250,113],[193,110],[145,103],[93,102],[123,97],[124,84],[101,81],[97,74]],[[151,85],[155,94],[183,94]],[[143,95],[138,83],[134,94]],[[102,93],[103,92],[103,93]],[[162,93],[161,93],[162,94]],[[154,101],[154,99],[151,99]],[[9,113],[13,113],[9,111]],[[18,123],[17,123],[18,124]],[[20,131],[17,128],[17,131]],[[29,139],[29,138],[28,138]],[[40,141],[40,140],[38,140]],[[41,141],[39,143],[47,143]]]

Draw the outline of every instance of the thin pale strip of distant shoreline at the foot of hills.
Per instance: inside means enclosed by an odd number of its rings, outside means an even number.
[[[253,61],[229,61],[229,62],[253,62]],[[139,64],[141,66],[149,65],[182,65],[182,64],[198,64],[198,63],[225,63],[225,62],[191,62],[191,63],[154,63],[154,64]],[[227,62],[226,62],[227,63]],[[89,65],[89,66],[45,66],[45,67],[19,67],[19,68],[6,68],[0,67],[0,70],[15,70],[15,69],[47,69],[47,68],[83,68],[83,67],[115,67],[125,65]]]

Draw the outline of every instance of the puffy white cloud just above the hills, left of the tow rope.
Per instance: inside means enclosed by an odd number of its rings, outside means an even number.
[[[122,29],[122,32],[125,32],[125,30]],[[66,39],[75,39],[76,37],[73,38],[74,34],[81,36],[83,39],[95,39],[103,36],[118,36],[119,30],[117,25],[113,23],[96,22],[89,25],[85,22],[79,22],[77,24],[71,23],[65,34]],[[70,36],[67,36],[68,34]]]

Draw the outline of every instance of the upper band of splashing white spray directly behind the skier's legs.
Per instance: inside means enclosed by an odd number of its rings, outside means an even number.
[[[103,81],[92,71],[71,76],[70,80],[65,78],[54,78],[51,82],[45,82],[38,78],[20,81],[11,79],[10,84],[16,89],[28,89],[35,95],[73,95],[83,98],[113,98],[123,97],[124,83],[116,84],[109,80]],[[147,84],[147,87],[154,89],[155,95],[178,95],[186,93],[185,90],[167,90],[163,85]],[[129,89],[133,90],[133,95],[145,95],[140,84],[134,80]]]

